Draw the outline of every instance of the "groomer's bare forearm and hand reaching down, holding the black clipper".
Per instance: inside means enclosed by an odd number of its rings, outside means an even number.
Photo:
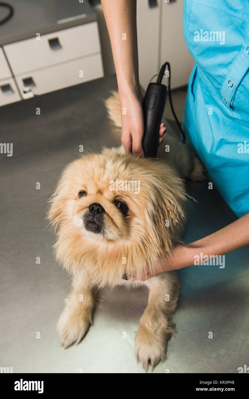
[[[121,141],[126,154],[132,151],[144,156],[142,93],[138,79],[136,0],[101,0],[101,3],[111,40],[121,109],[126,109],[126,114],[121,114]],[[162,123],[159,144],[162,142],[165,130]]]

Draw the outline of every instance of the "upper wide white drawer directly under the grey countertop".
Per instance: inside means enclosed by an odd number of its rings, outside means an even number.
[[[17,41],[4,50],[14,74],[20,75],[101,51],[98,25],[91,22],[41,35],[40,40]]]

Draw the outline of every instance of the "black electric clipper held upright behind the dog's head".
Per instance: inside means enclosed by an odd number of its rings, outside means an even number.
[[[162,65],[156,83],[149,83],[142,104],[144,114],[142,146],[146,158],[156,158],[158,150],[158,130],[167,96],[167,86],[162,84],[166,65],[166,62]]]

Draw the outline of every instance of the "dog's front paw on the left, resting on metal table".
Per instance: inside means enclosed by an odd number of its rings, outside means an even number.
[[[91,323],[92,316],[90,312],[79,312],[66,307],[57,323],[60,345],[66,349],[73,343],[79,344]]]

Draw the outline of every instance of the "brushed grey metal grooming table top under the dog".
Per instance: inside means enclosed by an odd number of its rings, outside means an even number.
[[[53,259],[46,201],[80,145],[84,151],[119,146],[119,132],[103,105],[116,87],[112,75],[0,108],[0,142],[13,143],[12,156],[0,154],[0,366],[13,367],[13,373],[144,372],[134,359],[134,337],[147,301],[143,289],[103,289],[94,324],[78,346],[63,350],[55,331],[71,283]],[[186,242],[234,220],[207,181],[188,184],[188,192],[198,202],[188,204]],[[192,266],[179,272],[178,334],[154,373],[237,373],[249,365],[248,259],[245,247],[225,256],[224,269]]]

